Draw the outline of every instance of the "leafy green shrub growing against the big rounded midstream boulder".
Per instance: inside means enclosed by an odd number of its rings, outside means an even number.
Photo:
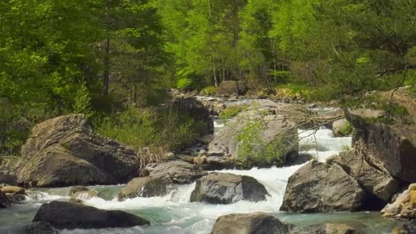
[[[239,133],[237,140],[237,165],[242,168],[253,166],[280,166],[283,163],[283,142],[274,139],[272,142],[265,142],[261,139],[263,126],[259,120],[248,122]]]

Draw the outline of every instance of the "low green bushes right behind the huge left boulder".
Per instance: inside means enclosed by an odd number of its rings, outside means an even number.
[[[196,138],[200,129],[205,127],[189,116],[170,110],[143,112],[135,107],[112,116],[98,117],[93,122],[97,133],[137,151],[144,147],[175,151]]]

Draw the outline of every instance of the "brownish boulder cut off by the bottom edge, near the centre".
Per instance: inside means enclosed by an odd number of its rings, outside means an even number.
[[[294,226],[281,222],[268,213],[233,213],[217,218],[211,234],[289,234]],[[299,232],[300,233],[300,232]]]

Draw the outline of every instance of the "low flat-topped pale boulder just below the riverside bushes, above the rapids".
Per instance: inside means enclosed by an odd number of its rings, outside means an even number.
[[[198,165],[189,164],[185,161],[166,161],[148,164],[144,170],[155,179],[164,179],[171,183],[192,183],[196,179],[208,174]]]

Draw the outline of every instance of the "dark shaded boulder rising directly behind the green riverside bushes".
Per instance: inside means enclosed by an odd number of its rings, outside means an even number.
[[[213,120],[209,109],[195,97],[178,97],[171,103],[171,108],[181,114],[188,114],[194,120],[203,122],[205,129],[201,133],[213,134]]]

